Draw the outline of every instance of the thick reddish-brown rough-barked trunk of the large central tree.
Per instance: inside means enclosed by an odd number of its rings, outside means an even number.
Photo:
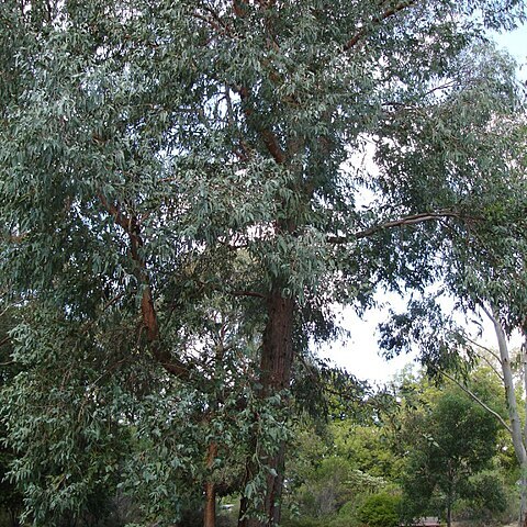
[[[280,289],[276,288],[267,302],[268,319],[264,332],[260,359],[260,396],[262,399],[288,389],[290,385],[293,363],[293,312],[294,301],[283,298]],[[247,517],[249,503],[247,498],[243,497],[238,527],[273,527],[280,522],[285,446],[280,445],[274,455],[260,451],[258,456],[277,475],[273,473],[267,475],[266,494],[262,496],[264,504],[259,511],[262,519]],[[249,458],[245,484],[256,475],[256,471],[257,467]]]

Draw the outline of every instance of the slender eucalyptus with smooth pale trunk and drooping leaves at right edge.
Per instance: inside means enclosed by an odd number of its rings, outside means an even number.
[[[411,302],[408,312],[395,315],[383,325],[381,344],[389,354],[399,354],[408,344],[417,344],[421,359],[435,374],[452,379],[451,371],[458,370],[466,377],[474,361],[481,356],[482,347],[459,327],[455,318],[445,315],[437,298],[444,293],[453,299],[458,313],[491,322],[496,333],[497,352],[486,350],[496,359],[496,374],[504,388],[507,418],[494,413],[511,435],[516,460],[522,471],[519,525],[527,522],[527,470],[525,427],[518,411],[517,394],[513,380],[512,357],[508,337],[519,330],[525,338],[527,244],[525,238],[525,111],[518,106],[514,115],[494,119],[486,126],[490,143],[481,141],[486,154],[479,156],[487,161],[482,166],[485,173],[471,184],[479,187],[478,213],[468,229],[451,225],[445,238],[449,250],[442,253],[440,267],[444,272],[441,288],[427,301]],[[505,142],[505,143],[503,143]],[[498,146],[502,143],[502,146]],[[508,145],[508,146],[506,146]],[[498,148],[496,150],[495,148]],[[500,152],[500,154],[497,154]],[[501,167],[489,162],[490,157],[500,155]],[[487,157],[490,156],[490,157]],[[404,157],[404,156],[403,156]],[[461,189],[456,189],[459,192]],[[433,298],[436,296],[436,298]],[[479,321],[481,323],[481,319]],[[460,360],[461,359],[461,360]],[[525,363],[525,344],[522,347]],[[461,367],[464,371],[459,371]],[[500,370],[500,371],[497,371]],[[522,372],[525,379],[525,371]],[[463,381],[459,382],[464,385]],[[468,389],[467,389],[468,390]],[[485,405],[468,390],[482,407]],[[490,413],[491,408],[486,407]]]

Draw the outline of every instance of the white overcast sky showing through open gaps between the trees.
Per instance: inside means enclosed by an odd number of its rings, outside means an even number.
[[[527,79],[527,25],[517,30],[496,34],[497,46],[506,49],[518,63],[518,77]],[[384,296],[384,298],[383,298]],[[359,379],[368,379],[372,383],[384,383],[413,361],[412,356],[401,356],[386,361],[379,355],[377,326],[388,317],[389,307],[394,311],[404,310],[404,302],[395,295],[378,295],[384,307],[368,312],[360,319],[352,310],[343,312],[343,326],[350,332],[346,341],[338,340],[318,350],[321,357],[329,358],[336,365],[346,368]],[[485,329],[482,341],[490,347],[496,347],[495,335]],[[514,344],[513,344],[514,345]]]

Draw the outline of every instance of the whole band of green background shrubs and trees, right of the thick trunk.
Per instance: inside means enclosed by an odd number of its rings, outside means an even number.
[[[472,371],[469,388],[506,412],[489,367]],[[382,412],[379,394],[362,402],[365,413],[372,405],[369,423],[351,417],[321,435],[309,424],[296,431],[284,525],[395,526],[445,515],[448,500],[456,519],[509,522],[517,472],[504,459],[512,446],[497,419],[451,382],[406,372],[392,390],[382,393],[384,403],[392,397]]]

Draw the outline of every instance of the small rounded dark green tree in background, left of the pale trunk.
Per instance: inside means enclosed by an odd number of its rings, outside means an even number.
[[[496,455],[495,416],[459,388],[446,385],[428,411],[414,416],[408,425],[412,431],[403,448],[410,451],[402,478],[408,519],[446,515],[460,498],[482,503],[494,497],[496,503],[489,502],[486,507],[500,509],[503,486],[485,486],[482,472]]]

